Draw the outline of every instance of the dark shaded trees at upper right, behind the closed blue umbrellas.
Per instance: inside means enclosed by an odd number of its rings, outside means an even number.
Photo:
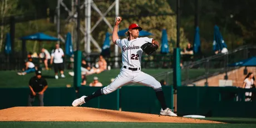
[[[180,0],[181,27],[190,42],[194,39],[195,1]],[[245,43],[253,43],[255,38],[254,7],[256,1],[251,0],[198,0],[199,1],[199,28],[201,49],[212,51],[214,25],[218,25],[220,32],[228,45],[234,49]],[[168,1],[176,10],[176,1]]]

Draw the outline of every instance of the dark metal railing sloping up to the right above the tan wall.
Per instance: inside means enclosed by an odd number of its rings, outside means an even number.
[[[229,64],[252,56],[256,56],[256,46],[243,46],[225,54],[206,57],[195,62],[186,62],[184,69],[181,70],[181,84],[189,85],[195,81],[205,79],[205,86],[208,86],[208,78],[219,75],[220,73],[226,73],[223,79],[227,80],[227,72],[239,68],[229,67]]]

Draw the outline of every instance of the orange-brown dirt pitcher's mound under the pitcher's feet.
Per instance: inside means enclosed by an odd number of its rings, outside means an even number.
[[[188,122],[214,121],[124,112],[88,107],[11,107],[0,110],[0,121]]]

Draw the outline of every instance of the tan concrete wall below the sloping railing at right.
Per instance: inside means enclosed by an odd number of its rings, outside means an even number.
[[[237,70],[233,70],[228,72],[228,80],[232,80],[233,86],[243,87],[243,81],[246,75],[244,75],[244,68],[240,67]],[[256,67],[247,67],[248,73],[253,72],[254,75],[256,74]],[[218,76],[213,76],[208,78],[208,86],[216,87],[219,86],[219,80],[224,80],[225,73],[222,73]],[[206,80],[200,80],[194,82],[196,86],[205,86]],[[227,84],[226,84],[227,85]]]

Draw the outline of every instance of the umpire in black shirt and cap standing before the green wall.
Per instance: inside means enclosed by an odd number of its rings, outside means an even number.
[[[32,106],[32,102],[35,101],[35,97],[40,100],[40,106],[43,106],[43,93],[48,87],[48,83],[45,78],[42,78],[41,71],[36,71],[36,76],[33,76],[29,80],[30,92],[28,95],[28,106]]]

